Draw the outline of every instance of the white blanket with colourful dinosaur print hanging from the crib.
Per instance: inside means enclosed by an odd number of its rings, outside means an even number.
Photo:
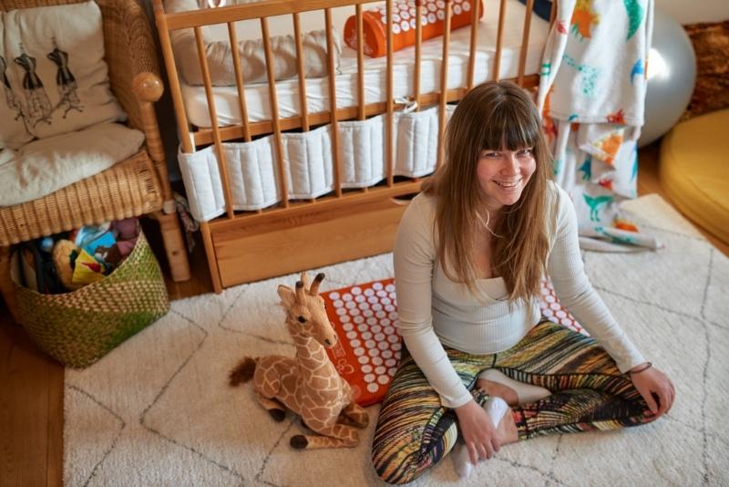
[[[544,50],[538,102],[555,180],[591,248],[658,246],[619,210],[637,196],[652,11],[653,0],[563,0]]]

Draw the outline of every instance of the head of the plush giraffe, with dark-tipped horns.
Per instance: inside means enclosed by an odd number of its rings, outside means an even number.
[[[306,273],[296,283],[295,290],[286,285],[279,285],[283,308],[286,310],[289,330],[293,335],[312,337],[323,347],[334,347],[337,337],[334,326],[326,316],[323,297],[319,295],[319,285],[324,275],[319,273],[309,285]]]

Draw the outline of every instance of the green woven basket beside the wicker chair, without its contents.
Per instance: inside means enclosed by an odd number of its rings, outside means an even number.
[[[84,368],[169,310],[167,288],[144,234],[104,279],[62,295],[15,284],[21,325],[62,364]]]

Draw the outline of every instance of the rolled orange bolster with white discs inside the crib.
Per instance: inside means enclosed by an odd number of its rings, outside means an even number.
[[[483,16],[481,0],[396,0],[393,3],[393,50],[413,46],[416,43],[416,2],[422,2],[420,24],[423,40],[442,36],[446,25],[446,3],[452,4],[451,30],[471,23],[473,7],[478,5],[478,18]],[[362,15],[364,54],[370,57],[385,56],[387,52],[387,14],[385,5],[366,10]],[[344,42],[357,48],[357,18],[351,16],[344,24]]]

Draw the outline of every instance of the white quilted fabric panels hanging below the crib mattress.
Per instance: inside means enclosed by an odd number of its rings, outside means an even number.
[[[453,111],[448,106],[447,116]],[[385,120],[341,121],[338,152],[342,188],[365,188],[385,179]],[[393,117],[396,176],[421,177],[436,168],[437,108],[398,111]],[[282,156],[289,199],[312,199],[334,191],[330,125],[308,132],[282,133]],[[282,201],[276,140],[269,135],[252,142],[222,144],[231,181],[233,209],[260,210]],[[206,222],[225,212],[221,173],[215,146],[178,154],[190,212]]]

